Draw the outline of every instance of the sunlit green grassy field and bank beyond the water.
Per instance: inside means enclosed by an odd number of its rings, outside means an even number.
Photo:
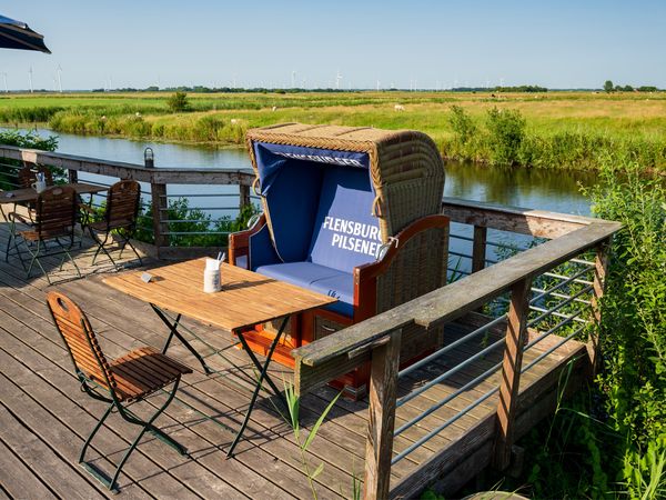
[[[617,157],[666,171],[666,92],[202,93],[189,94],[189,110],[180,113],[170,111],[169,96],[11,96],[0,98],[0,122],[219,144],[240,144],[248,128],[281,121],[410,128],[428,133],[452,158],[589,169]],[[461,136],[452,107],[468,119],[468,137]],[[512,114],[523,120],[518,136],[507,130],[515,123],[502,120]]]

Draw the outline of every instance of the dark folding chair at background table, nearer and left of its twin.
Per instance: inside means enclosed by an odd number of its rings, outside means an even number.
[[[37,263],[50,284],[51,279],[41,264],[40,259],[62,253],[64,256],[60,261],[60,269],[62,270],[64,259],[68,257],[77,269],[77,273],[81,277],[81,271],[69,252],[74,246],[74,227],[79,213],[78,207],[79,202],[74,188],[54,186],[39,193],[34,203],[34,222],[32,228],[19,231],[13,239],[17,254],[23,269],[27,269],[28,277],[30,277],[32,267]],[[22,252],[19,249],[18,237],[23,240],[28,253],[31,256],[28,268],[26,268]],[[67,243],[63,244],[61,239],[65,240]],[[52,248],[49,249],[49,242],[57,244],[54,251]]]

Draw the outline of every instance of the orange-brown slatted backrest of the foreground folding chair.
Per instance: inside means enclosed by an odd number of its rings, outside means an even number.
[[[74,368],[103,386],[117,387],[109,362],[100,348],[88,318],[69,297],[51,291],[47,304],[53,322],[72,358]]]

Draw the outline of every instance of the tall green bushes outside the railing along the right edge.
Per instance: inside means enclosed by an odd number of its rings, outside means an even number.
[[[666,187],[635,161],[599,161],[601,182],[586,194],[596,216],[623,223],[601,301],[601,372],[518,441],[531,457],[523,474],[493,473],[486,488],[500,481],[533,498],[666,498]]]

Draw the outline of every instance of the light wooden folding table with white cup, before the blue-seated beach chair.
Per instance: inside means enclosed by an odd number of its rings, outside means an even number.
[[[238,336],[243,349],[260,370],[260,377],[243,424],[228,452],[228,457],[231,457],[248,426],[263,381],[265,380],[273,392],[282,399],[282,392],[269,377],[268,369],[289,317],[327,306],[336,299],[226,263],[220,267],[222,291],[205,293],[203,291],[204,268],[205,259],[196,259],[152,269],[150,282],[142,279],[143,272],[137,271],[104,278],[103,282],[115,290],[149,302],[170,329],[162,352],[167,352],[172,338],[176,337],[196,357],[208,374],[213,371],[206,366],[203,357],[178,331],[181,317],[186,316]],[[175,320],[169,318],[164,311],[176,314]],[[282,324],[262,364],[248,346],[244,330],[279,318],[283,318]]]

